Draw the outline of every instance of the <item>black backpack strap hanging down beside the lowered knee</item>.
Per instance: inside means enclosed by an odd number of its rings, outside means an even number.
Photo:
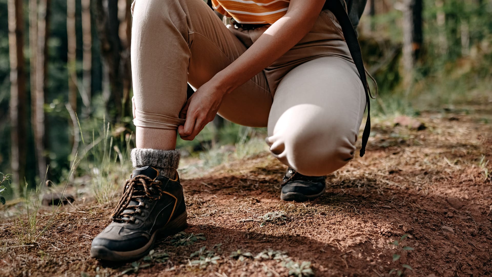
[[[326,0],[323,9],[329,9],[340,23],[341,30],[343,31],[343,36],[345,37],[345,41],[347,42],[348,50],[350,51],[350,55],[352,56],[352,60],[354,60],[355,67],[359,72],[359,76],[362,81],[362,85],[364,86],[364,90],[366,91],[366,103],[368,105],[368,119],[366,121],[366,127],[364,127],[364,133],[362,133],[362,148],[360,151],[360,156],[364,156],[366,153],[366,145],[369,139],[370,133],[370,103],[369,103],[369,86],[368,80],[366,77],[366,71],[364,69],[364,63],[362,61],[362,53],[361,47],[359,46],[359,42],[357,41],[357,35],[355,33],[354,27],[350,22],[350,18],[348,17],[347,12],[343,4],[340,0]]]

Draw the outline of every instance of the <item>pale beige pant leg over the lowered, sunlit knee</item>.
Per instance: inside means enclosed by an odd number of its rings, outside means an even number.
[[[268,120],[272,154],[301,174],[332,173],[354,157],[366,99],[352,62],[321,57],[280,81]]]

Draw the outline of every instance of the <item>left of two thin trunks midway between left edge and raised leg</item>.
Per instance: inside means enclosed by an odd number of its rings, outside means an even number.
[[[66,1],[66,33],[68,42],[67,70],[68,70],[68,103],[74,112],[77,112],[77,69],[76,69],[76,50],[77,37],[75,34],[75,0]],[[73,121],[69,124],[75,132]],[[75,134],[70,135],[70,144],[75,145]],[[78,146],[78,145],[77,145]],[[74,157],[71,157],[73,159]]]

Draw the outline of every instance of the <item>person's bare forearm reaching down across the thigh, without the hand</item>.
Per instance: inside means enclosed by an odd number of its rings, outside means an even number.
[[[268,28],[237,60],[214,76],[223,93],[229,93],[297,44],[313,27],[324,0],[292,0],[289,10]],[[237,74],[241,72],[241,74]]]

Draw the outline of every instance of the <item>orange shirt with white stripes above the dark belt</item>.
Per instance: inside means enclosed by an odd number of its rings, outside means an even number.
[[[290,0],[212,0],[214,9],[243,24],[273,24],[284,16]]]

